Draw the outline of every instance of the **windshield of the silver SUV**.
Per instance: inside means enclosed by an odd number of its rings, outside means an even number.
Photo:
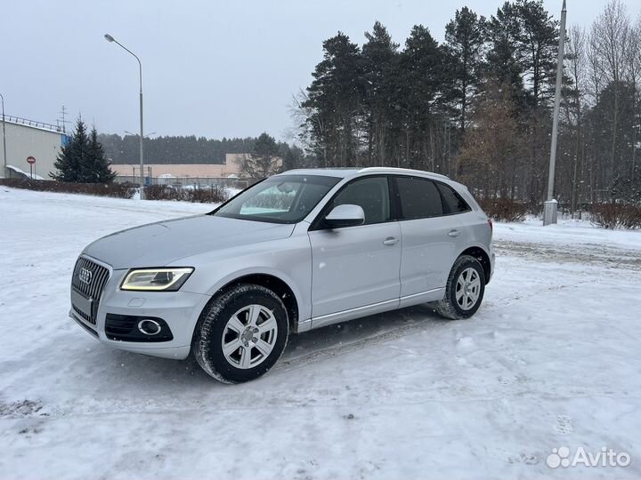
[[[321,175],[278,175],[247,188],[211,214],[239,220],[297,223],[340,179]]]

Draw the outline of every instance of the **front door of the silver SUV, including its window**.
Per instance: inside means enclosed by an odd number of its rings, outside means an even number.
[[[312,244],[312,325],[395,308],[401,290],[401,228],[393,221],[388,179],[354,180],[323,211],[340,204],[360,205],[358,227],[309,232]]]

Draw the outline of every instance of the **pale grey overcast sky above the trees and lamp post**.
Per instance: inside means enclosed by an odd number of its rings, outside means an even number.
[[[142,59],[145,132],[279,139],[292,93],[311,81],[321,42],[338,30],[362,44],[380,20],[397,43],[422,23],[442,41],[467,4],[495,13],[503,0],[22,1],[0,8],[0,93],[9,115],[55,123],[61,106],[100,132],[138,131]],[[558,18],[561,0],[545,0]],[[605,0],[568,0],[568,25],[590,26]],[[633,20],[641,1],[624,0]]]

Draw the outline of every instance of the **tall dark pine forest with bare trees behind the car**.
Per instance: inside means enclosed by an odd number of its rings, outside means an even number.
[[[613,0],[566,38],[556,197],[572,210],[638,202],[641,18]],[[339,32],[295,96],[299,140],[320,166],[428,170],[480,197],[540,204],[558,40],[540,0],[506,2],[489,18],[463,7],[441,44],[422,25],[403,47],[379,22],[361,46]]]

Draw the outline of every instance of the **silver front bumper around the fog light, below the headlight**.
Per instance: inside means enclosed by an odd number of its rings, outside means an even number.
[[[189,356],[191,338],[209,297],[192,292],[126,292],[119,289],[126,270],[113,270],[102,291],[96,324],[90,324],[73,308],[69,316],[102,343],[135,353],[183,359]],[[105,326],[107,315],[161,318],[172,332],[167,341],[111,340]]]

